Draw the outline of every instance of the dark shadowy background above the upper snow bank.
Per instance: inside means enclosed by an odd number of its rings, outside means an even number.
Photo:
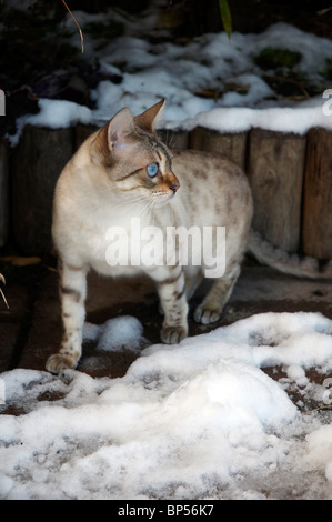
[[[118,7],[132,17],[142,16],[153,0],[68,0],[71,10],[89,13]],[[16,133],[16,120],[38,112],[39,98],[57,98],[91,107],[90,90],[104,78],[98,61],[87,62],[80,51],[68,44],[61,23],[69,14],[61,0],[32,2],[24,11],[12,0],[0,0],[0,89],[6,92],[6,118],[0,119],[0,138]],[[283,21],[320,37],[332,37],[332,0],[229,0],[233,31],[262,32]],[[219,0],[164,0],[159,23],[173,41],[207,32],[223,31]],[[74,22],[72,30],[78,31]],[[107,27],[104,38],[121,34],[121,24]],[[79,33],[78,33],[79,38]],[[150,40],[165,39],[160,31]],[[169,38],[169,37],[168,37]],[[62,74],[54,71],[66,71]],[[109,78],[108,78],[109,79]],[[111,81],[121,81],[112,78]]]

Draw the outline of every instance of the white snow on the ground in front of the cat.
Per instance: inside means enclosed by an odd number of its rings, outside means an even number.
[[[84,330],[103,350],[142,333],[131,317]],[[331,499],[330,413],[302,408],[323,405],[331,334],[320,313],[264,313],[151,345],[118,379],[4,372],[6,404],[21,414],[0,418],[0,495]],[[286,377],[262,370],[275,365]]]

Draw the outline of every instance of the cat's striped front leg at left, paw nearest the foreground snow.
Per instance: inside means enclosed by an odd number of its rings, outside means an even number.
[[[46,364],[47,370],[52,373],[76,368],[82,353],[82,330],[85,317],[85,268],[59,260],[59,275],[64,332],[59,352],[49,357]]]

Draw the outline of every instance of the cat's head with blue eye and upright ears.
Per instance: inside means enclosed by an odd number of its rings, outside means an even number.
[[[180,188],[172,172],[172,153],[158,138],[154,126],[164,100],[133,117],[128,108],[118,112],[95,137],[93,148],[114,190],[163,204]]]

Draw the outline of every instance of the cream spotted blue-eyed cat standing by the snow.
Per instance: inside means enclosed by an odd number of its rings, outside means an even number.
[[[81,357],[90,269],[111,277],[148,274],[155,283],[163,313],[161,341],[179,343],[188,335],[188,302],[211,269],[211,255],[210,262],[201,255],[201,264],[197,264],[193,258],[201,244],[192,240],[189,249],[189,243],[179,238],[164,242],[168,235],[162,234],[154,244],[154,262],[113,262],[112,252],[114,257],[122,247],[128,252],[128,241],[132,249],[137,245],[133,220],[141,230],[153,227],[161,232],[180,225],[201,232],[210,228],[214,254],[219,245],[212,232],[224,230],[223,271],[194,310],[194,320],[203,324],[220,319],[247,251],[296,275],[332,274],[331,262],[320,267],[314,259],[288,255],[252,230],[252,195],[240,167],[218,153],[171,151],[155,132],[163,107],[161,100],[135,117],[128,108],[122,109],[84,141],[59,177],[52,237],[59,259],[64,333],[60,351],[47,361],[52,373],[76,368]],[[110,230],[125,234],[121,239],[110,235]],[[117,249],[112,250],[114,241]],[[187,254],[188,262],[183,263]]]

